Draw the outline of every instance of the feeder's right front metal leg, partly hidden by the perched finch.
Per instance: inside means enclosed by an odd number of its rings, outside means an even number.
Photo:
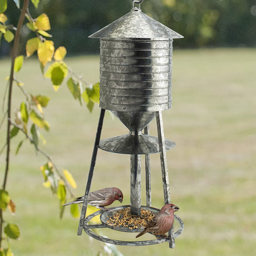
[[[167,168],[167,161],[166,161],[163,116],[162,116],[161,111],[156,112],[156,124],[157,124],[158,140],[159,140],[159,149],[161,150],[160,160],[161,160],[163,187],[164,187],[164,199],[165,199],[165,204],[170,204],[171,203],[171,196],[170,196],[168,168]],[[173,230],[173,228],[171,228],[168,235],[171,238],[170,242],[169,242],[169,247],[174,248],[175,247],[175,240],[174,240],[174,230]]]

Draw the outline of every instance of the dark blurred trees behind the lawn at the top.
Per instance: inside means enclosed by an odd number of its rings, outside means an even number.
[[[17,24],[18,9],[8,1],[8,21]],[[69,55],[99,52],[93,32],[115,21],[131,9],[130,0],[41,0],[32,17],[45,12],[51,21],[56,48],[63,45]],[[175,47],[254,47],[256,46],[255,0],[145,0],[144,13],[185,38]],[[11,11],[10,11],[11,10]],[[24,49],[29,30],[23,26]],[[32,33],[31,33],[32,37]],[[9,55],[12,45],[1,42],[0,56]]]

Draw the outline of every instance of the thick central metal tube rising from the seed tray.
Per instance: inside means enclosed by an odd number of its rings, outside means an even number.
[[[131,214],[140,215],[141,206],[141,156],[131,155]]]

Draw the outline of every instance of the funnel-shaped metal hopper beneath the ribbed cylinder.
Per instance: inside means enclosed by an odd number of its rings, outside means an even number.
[[[118,119],[130,130],[143,130],[154,118],[155,112],[121,112],[112,111]]]

